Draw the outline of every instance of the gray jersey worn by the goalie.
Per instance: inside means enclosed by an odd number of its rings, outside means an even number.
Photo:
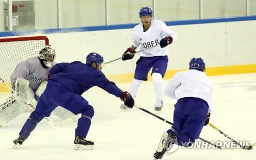
[[[47,79],[47,75],[50,69],[56,62],[52,62],[50,68],[44,68],[38,57],[29,58],[19,64],[17,64],[14,72],[11,75],[11,84],[15,85],[17,78],[23,78],[29,80],[29,86],[36,91],[40,83]]]

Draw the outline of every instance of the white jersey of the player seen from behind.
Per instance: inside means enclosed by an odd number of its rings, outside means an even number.
[[[184,97],[197,97],[208,103],[209,110],[212,110],[212,89],[213,84],[204,72],[188,70],[177,72],[164,87],[164,95],[180,99]]]

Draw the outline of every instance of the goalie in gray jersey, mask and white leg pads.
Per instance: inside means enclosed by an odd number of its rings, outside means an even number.
[[[17,64],[11,75],[13,97],[1,105],[0,126],[5,127],[20,113],[34,109],[28,107],[27,104],[33,100],[36,103],[41,93],[44,92],[49,71],[56,64],[55,57],[55,50],[50,45],[46,45],[39,52],[39,56],[28,58]],[[70,117],[75,119],[70,111],[61,107],[57,107],[53,114],[64,120]]]

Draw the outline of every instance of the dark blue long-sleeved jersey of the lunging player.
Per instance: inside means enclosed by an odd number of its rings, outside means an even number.
[[[57,82],[55,85],[65,86],[70,92],[79,95],[93,86],[98,86],[116,97],[122,94],[122,90],[101,71],[80,61],[57,63],[50,70],[49,76],[49,81]]]

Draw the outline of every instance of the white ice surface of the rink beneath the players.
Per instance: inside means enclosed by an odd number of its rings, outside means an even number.
[[[214,110],[210,122],[236,141],[256,142],[256,73],[210,76],[214,82]],[[166,83],[167,80],[165,80]],[[128,90],[130,83],[118,83]],[[93,87],[83,96],[94,106],[95,116],[87,139],[95,143],[94,150],[73,150],[76,122],[64,126],[51,126],[42,120],[29,139],[17,149],[12,141],[29,113],[23,113],[5,128],[0,128],[1,160],[89,160],[89,159],[153,159],[160,137],[170,125],[134,107],[121,110],[119,98]],[[152,81],[143,82],[135,99],[137,106],[154,112]],[[158,116],[173,122],[176,100],[164,97],[163,109]],[[53,120],[57,118],[52,117]],[[200,135],[207,141],[228,142],[218,131],[205,126]],[[198,142],[201,140],[197,140]],[[256,146],[252,150],[217,148],[181,148],[164,155],[162,159],[256,159]]]

